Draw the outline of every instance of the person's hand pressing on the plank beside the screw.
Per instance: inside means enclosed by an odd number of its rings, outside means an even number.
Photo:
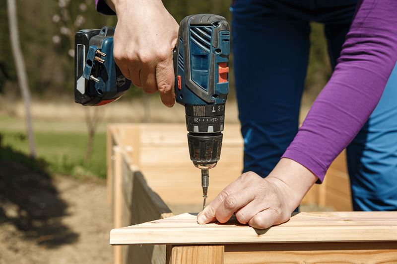
[[[226,223],[235,214],[240,223],[258,229],[281,224],[316,180],[304,166],[281,159],[266,178],[248,172],[229,184],[199,213],[198,222]]]

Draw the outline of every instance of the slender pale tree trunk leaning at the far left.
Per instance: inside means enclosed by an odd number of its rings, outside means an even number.
[[[23,60],[23,54],[19,43],[18,20],[15,0],[7,0],[7,12],[8,28],[12,54],[15,61],[16,75],[18,76],[18,85],[21,89],[22,97],[25,102],[26,133],[28,136],[30,156],[32,158],[36,158],[36,145],[34,142],[32,116],[30,113],[30,91],[27,81],[28,78],[26,74],[25,62]]]

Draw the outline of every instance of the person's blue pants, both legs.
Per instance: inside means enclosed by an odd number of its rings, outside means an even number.
[[[310,21],[324,23],[336,65],[356,0],[237,0],[235,84],[244,172],[267,176],[298,130]],[[397,210],[397,66],[381,101],[347,148],[354,210]]]

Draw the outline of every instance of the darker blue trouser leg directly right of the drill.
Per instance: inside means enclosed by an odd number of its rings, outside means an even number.
[[[244,172],[265,177],[298,129],[310,27],[258,2],[236,1],[232,30]]]

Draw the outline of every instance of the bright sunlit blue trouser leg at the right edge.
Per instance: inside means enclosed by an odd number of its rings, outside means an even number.
[[[369,120],[347,147],[355,211],[397,210],[397,64]]]

